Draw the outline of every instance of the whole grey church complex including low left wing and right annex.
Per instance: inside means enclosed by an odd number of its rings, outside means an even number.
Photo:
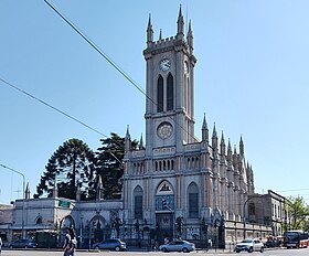
[[[243,138],[232,149],[215,126],[209,130],[205,117],[201,140],[194,136],[196,57],[191,22],[187,31],[181,8],[171,38],[160,33],[154,41],[149,18],[143,50],[146,143],[141,138],[134,150],[127,128],[121,199],[104,200],[100,179],[94,201],[82,201],[79,190],[76,200],[58,198],[56,185],[52,198],[30,199],[28,189],[23,200],[0,211],[4,241],[36,235],[43,237],[40,247],[56,247],[73,226],[84,248],[109,237],[146,248],[166,238],[188,239],[196,247],[206,247],[211,239],[215,247],[231,243],[231,248],[244,237],[265,239],[273,220],[273,233],[281,232],[278,217],[285,215],[285,200],[273,192],[268,198],[255,193]],[[263,202],[268,202],[265,212]]]

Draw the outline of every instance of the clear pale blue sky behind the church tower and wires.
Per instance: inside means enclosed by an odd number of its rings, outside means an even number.
[[[256,192],[309,200],[309,2],[307,0],[50,0],[145,88],[146,29],[177,32],[179,6],[192,21],[195,135],[204,113],[225,140],[241,136]],[[109,136],[145,134],[145,96],[44,1],[0,1],[0,78]],[[78,138],[103,137],[0,82],[0,163],[24,173],[35,192],[52,153]],[[21,198],[20,175],[0,168],[0,202]]]

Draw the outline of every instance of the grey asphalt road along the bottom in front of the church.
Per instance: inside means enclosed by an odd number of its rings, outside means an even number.
[[[1,256],[62,256],[63,252],[49,252],[49,250],[31,250],[31,249],[24,249],[24,250],[6,250],[2,249]],[[243,252],[239,254],[236,253],[230,253],[230,252],[203,252],[203,250],[198,250],[194,253],[190,254],[184,254],[184,253],[161,253],[161,252],[75,252],[74,256],[86,256],[86,255],[92,255],[92,256],[156,256],[156,255],[167,255],[167,256],[173,256],[173,255],[196,255],[196,256],[223,256],[223,255],[233,255],[233,256],[242,256],[242,255],[247,255],[247,253]],[[303,249],[270,249],[270,250],[265,250],[263,254],[260,253],[252,253],[249,254],[252,256],[307,256],[309,255],[309,248],[303,248]]]

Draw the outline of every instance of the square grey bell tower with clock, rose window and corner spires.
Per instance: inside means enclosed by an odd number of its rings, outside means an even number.
[[[191,22],[184,35],[180,7],[177,34],[153,41],[151,18],[147,28],[146,60],[146,145],[147,156],[153,149],[173,148],[194,142],[194,66]]]

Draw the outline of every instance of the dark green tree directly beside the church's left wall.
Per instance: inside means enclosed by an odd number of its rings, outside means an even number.
[[[107,139],[102,139],[102,147],[97,149],[97,174],[102,177],[105,199],[118,199],[122,189],[122,159],[125,156],[125,138],[111,132]],[[137,141],[131,142],[136,149]]]

